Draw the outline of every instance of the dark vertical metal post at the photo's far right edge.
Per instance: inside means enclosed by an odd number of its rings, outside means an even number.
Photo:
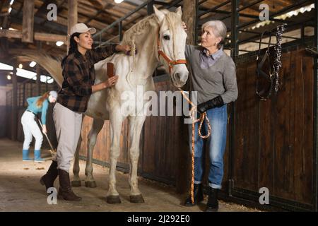
[[[315,11],[315,22],[316,25],[314,26],[314,45],[315,47],[317,47],[318,49],[318,2],[315,1],[314,2],[314,11]],[[314,159],[313,159],[313,170],[314,170],[314,178],[313,178],[313,204],[314,204],[314,211],[317,212],[318,210],[318,198],[317,198],[317,188],[318,188],[318,184],[317,184],[317,180],[318,180],[318,166],[317,166],[317,157],[318,157],[318,145],[317,145],[317,128],[318,128],[318,120],[317,120],[317,107],[318,107],[318,89],[317,89],[317,85],[318,85],[318,79],[317,79],[317,75],[318,75],[318,62],[317,62],[317,58],[314,58]]]

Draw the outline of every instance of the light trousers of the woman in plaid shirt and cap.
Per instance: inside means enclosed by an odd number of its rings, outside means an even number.
[[[57,169],[69,172],[73,160],[78,138],[81,135],[82,113],[73,112],[57,103],[53,109],[53,119],[57,131]]]

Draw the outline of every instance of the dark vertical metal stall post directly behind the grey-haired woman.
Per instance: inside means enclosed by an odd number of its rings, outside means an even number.
[[[232,0],[232,17],[231,17],[231,57],[233,61],[236,61],[238,56],[239,44],[237,42],[238,39],[238,25],[239,25],[239,16],[240,13],[237,11],[240,6],[240,0]],[[232,196],[232,189],[234,187],[234,168],[235,168],[235,102],[231,103],[231,112],[230,112],[230,146],[229,146],[229,172],[228,172],[228,196]]]

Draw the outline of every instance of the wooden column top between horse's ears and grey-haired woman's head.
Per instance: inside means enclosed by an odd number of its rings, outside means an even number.
[[[183,1],[183,21],[187,24],[187,44],[196,44],[196,7],[198,0]]]

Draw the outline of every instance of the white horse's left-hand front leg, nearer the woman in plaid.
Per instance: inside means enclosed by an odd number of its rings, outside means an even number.
[[[116,189],[116,166],[120,153],[120,133],[122,131],[122,114],[112,112],[110,115],[110,137],[112,143],[110,145],[110,174],[108,179],[107,203],[121,203],[119,194]]]

